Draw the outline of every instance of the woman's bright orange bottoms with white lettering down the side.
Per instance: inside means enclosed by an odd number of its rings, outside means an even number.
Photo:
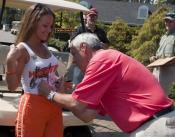
[[[61,108],[45,97],[24,93],[19,101],[16,137],[63,137]]]

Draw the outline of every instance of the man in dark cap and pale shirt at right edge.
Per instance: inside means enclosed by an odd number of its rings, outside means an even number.
[[[175,13],[167,13],[164,17],[164,22],[167,32],[161,37],[156,55],[150,58],[151,62],[175,55]],[[171,84],[175,82],[175,65],[155,67],[153,75],[158,79],[166,94],[169,95]]]

